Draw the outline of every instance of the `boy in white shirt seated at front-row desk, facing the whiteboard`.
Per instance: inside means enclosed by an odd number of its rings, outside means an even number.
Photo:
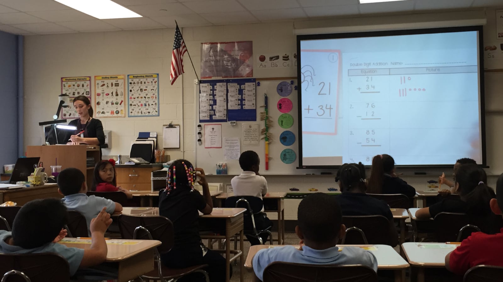
[[[234,196],[254,196],[262,199],[267,194],[267,180],[259,174],[260,158],[254,151],[246,151],[239,156],[239,166],[243,172],[231,179],[230,184]],[[264,208],[262,208],[264,211]],[[257,230],[264,230],[272,226],[272,221],[266,213],[255,214],[255,226]],[[267,242],[268,233],[261,235],[262,241]],[[259,239],[246,235],[251,245],[259,245]]]

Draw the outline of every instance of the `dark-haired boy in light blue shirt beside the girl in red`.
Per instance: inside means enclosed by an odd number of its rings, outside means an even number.
[[[91,235],[91,219],[95,218],[103,207],[107,213],[117,213],[122,211],[122,205],[112,200],[95,195],[88,196],[88,186],[85,182],[84,174],[76,168],[68,168],[58,175],[58,192],[63,195],[61,199],[68,211],[81,213],[88,224],[88,232]]]

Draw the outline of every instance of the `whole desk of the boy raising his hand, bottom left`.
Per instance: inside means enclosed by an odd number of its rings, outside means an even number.
[[[89,239],[64,238],[58,243],[79,249],[91,247]],[[110,239],[106,262],[117,265],[119,282],[129,281],[154,269],[154,248],[160,244],[157,240]]]

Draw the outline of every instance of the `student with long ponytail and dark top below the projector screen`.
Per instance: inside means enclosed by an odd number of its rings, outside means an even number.
[[[395,160],[382,154],[372,159],[367,193],[404,194],[411,199],[415,196],[415,189],[395,174]]]

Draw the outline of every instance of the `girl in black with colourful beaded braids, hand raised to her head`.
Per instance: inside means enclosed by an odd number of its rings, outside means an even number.
[[[194,189],[196,172],[203,186],[203,195]],[[185,268],[196,264],[208,264],[204,269],[210,281],[225,281],[225,259],[217,252],[207,249],[199,236],[199,212],[210,214],[213,210],[208,182],[203,169],[192,166],[189,161],[175,161],[167,172],[166,189],[159,192],[159,215],[169,218],[175,229],[175,245],[161,255],[164,265]],[[232,270],[230,271],[232,274]],[[187,275],[179,281],[204,281],[200,273]]]

